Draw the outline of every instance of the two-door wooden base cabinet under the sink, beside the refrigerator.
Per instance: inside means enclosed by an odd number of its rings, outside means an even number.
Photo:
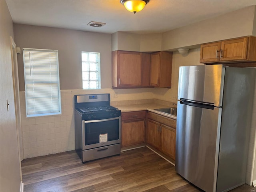
[[[146,143],[175,160],[176,120],[148,112]]]

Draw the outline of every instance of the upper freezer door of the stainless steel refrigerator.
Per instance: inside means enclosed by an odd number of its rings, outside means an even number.
[[[225,68],[222,65],[182,66],[178,100],[192,100],[222,106]]]

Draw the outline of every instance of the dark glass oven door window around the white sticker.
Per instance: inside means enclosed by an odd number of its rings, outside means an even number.
[[[84,124],[85,145],[100,142],[100,134],[108,134],[107,141],[119,139],[119,119]]]

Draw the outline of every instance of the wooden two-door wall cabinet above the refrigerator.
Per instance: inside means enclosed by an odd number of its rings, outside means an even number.
[[[242,37],[201,45],[200,63],[256,61],[256,37]]]

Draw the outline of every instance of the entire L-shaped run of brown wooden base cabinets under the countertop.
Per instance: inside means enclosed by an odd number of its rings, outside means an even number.
[[[175,160],[176,120],[149,111],[122,112],[121,120],[122,147],[146,143]]]

